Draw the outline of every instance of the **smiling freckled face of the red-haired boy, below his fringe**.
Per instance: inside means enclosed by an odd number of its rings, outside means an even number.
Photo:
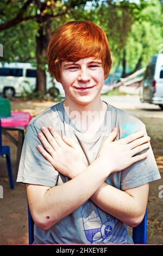
[[[100,99],[104,84],[101,59],[84,58],[76,63],[62,62],[60,82],[67,100],[86,105],[95,99]]]

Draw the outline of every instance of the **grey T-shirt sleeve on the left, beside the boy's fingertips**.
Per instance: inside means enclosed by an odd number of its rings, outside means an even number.
[[[40,129],[29,124],[24,138],[17,182],[53,187],[57,184],[58,171],[37,150]]]

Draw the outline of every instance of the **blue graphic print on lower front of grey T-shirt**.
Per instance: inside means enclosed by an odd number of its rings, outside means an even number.
[[[128,232],[123,223],[99,209],[90,200],[81,210],[87,241],[92,243],[127,243]]]

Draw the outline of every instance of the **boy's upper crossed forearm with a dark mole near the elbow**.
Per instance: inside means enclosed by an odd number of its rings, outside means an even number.
[[[52,227],[84,204],[103,184],[108,175],[109,171],[106,173],[102,163],[97,160],[76,178],[50,188],[43,194],[39,203],[38,200],[34,202],[36,209],[34,215],[39,216],[39,220],[35,221],[42,229]]]

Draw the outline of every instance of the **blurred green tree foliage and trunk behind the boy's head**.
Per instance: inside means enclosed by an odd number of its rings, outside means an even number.
[[[162,11],[162,0],[1,0],[3,61],[33,63],[37,68],[36,91],[43,94],[47,45],[53,31],[67,21],[90,20],[108,36],[111,74],[126,77],[161,51]]]

